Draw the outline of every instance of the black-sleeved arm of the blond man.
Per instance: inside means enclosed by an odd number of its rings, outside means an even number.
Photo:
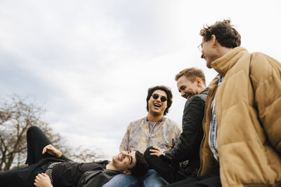
[[[183,111],[183,132],[178,144],[165,151],[165,156],[174,162],[182,162],[192,155],[196,155],[202,140],[202,119],[204,116],[205,101],[200,96],[190,97],[185,103]]]

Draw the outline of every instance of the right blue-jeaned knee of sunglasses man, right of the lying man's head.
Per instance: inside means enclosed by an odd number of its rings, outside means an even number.
[[[169,184],[154,169],[148,170],[144,176],[141,176],[144,187],[157,187]]]

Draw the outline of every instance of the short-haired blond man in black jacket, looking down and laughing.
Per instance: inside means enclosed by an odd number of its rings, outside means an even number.
[[[197,174],[203,137],[202,119],[209,90],[201,69],[183,69],[175,79],[181,96],[188,99],[183,111],[183,132],[178,144],[167,151],[157,146],[151,146],[145,151],[145,158],[150,167],[169,183]]]

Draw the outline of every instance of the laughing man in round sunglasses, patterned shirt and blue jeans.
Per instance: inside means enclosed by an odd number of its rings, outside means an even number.
[[[164,85],[148,89],[146,97],[148,116],[134,120],[129,124],[120,145],[120,151],[140,151],[143,153],[149,146],[170,149],[176,143],[181,128],[169,118],[164,118],[172,104],[171,90]],[[141,182],[140,182],[141,181]],[[163,186],[167,182],[150,169],[145,175],[136,178],[125,174],[113,177],[107,186]]]

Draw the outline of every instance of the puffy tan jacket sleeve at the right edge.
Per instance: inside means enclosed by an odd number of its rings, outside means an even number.
[[[250,71],[259,119],[270,144],[281,153],[281,64],[262,53],[253,53]]]

